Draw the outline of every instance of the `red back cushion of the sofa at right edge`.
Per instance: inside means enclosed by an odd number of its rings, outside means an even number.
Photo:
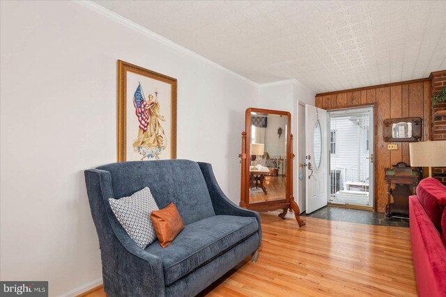
[[[441,230],[441,216],[446,206],[446,186],[432,177],[417,186],[417,196],[433,225]]]

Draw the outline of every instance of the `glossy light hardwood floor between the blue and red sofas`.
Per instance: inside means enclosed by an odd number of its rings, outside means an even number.
[[[417,296],[408,228],[261,218],[258,262],[248,257],[200,296]]]

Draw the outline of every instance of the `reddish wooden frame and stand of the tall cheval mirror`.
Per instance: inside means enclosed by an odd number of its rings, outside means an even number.
[[[274,115],[284,115],[288,118],[288,128],[286,129],[286,189],[285,197],[282,200],[266,201],[266,202],[249,202],[249,144],[251,135],[251,115],[252,113],[268,113]],[[293,197],[293,134],[291,134],[291,113],[288,111],[273,111],[270,109],[254,109],[249,108],[245,111],[245,131],[242,132],[242,153],[240,154],[242,163],[242,177],[240,187],[240,207],[254,211],[275,211],[282,209],[279,217],[284,219],[288,210],[294,212],[295,219],[298,221],[299,227],[305,225],[305,222],[300,218],[300,209]]]

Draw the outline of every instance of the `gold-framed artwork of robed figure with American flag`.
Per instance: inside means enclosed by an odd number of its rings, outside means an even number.
[[[118,162],[176,159],[176,79],[118,60]]]

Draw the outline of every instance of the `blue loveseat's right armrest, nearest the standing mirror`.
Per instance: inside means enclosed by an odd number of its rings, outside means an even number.
[[[256,211],[250,211],[239,207],[237,204],[229,200],[229,198],[224,195],[222,189],[215,179],[214,172],[210,163],[198,162],[201,172],[203,172],[203,177],[208,186],[210,199],[214,207],[215,214],[217,215],[229,215],[229,216],[250,216],[254,217],[259,224],[259,246],[261,245],[261,220],[260,215]]]

